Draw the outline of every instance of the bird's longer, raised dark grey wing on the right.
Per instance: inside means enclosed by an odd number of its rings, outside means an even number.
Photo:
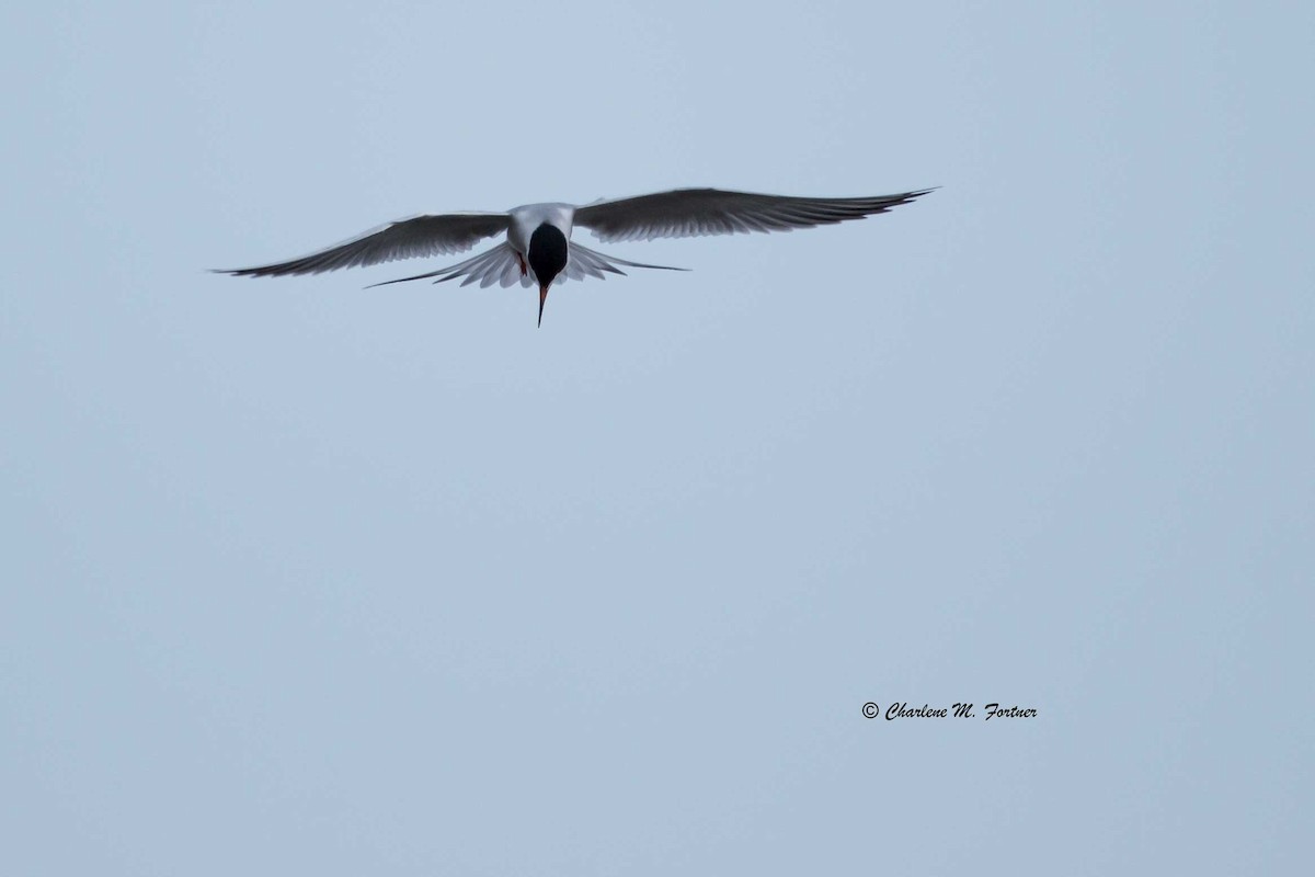
[[[861,199],[800,199],[721,189],[675,189],[577,208],[575,224],[592,230],[601,241],[789,231],[885,213],[931,191]]]

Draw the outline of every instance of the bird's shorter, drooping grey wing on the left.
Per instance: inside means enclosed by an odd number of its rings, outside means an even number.
[[[417,256],[450,255],[469,250],[481,238],[506,231],[509,224],[510,216],[506,213],[417,216],[389,222],[300,259],[255,268],[221,268],[218,273],[231,273],[235,277],[274,277],[356,268]]]

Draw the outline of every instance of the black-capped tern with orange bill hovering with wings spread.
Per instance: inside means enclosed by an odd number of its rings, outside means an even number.
[[[497,234],[506,239],[472,259],[438,271],[371,284],[384,287],[433,277],[444,283],[466,277],[462,285],[479,283],[504,288],[519,283],[539,287],[539,320],[548,288],[585,277],[606,279],[625,275],[627,268],[688,271],[672,266],[629,262],[604,255],[571,239],[576,226],[589,229],[604,243],[652,241],[747,231],[790,231],[819,225],[861,220],[909,204],[934,189],[872,197],[792,197],[692,188],[655,192],[635,197],[598,200],[575,205],[563,202],[526,204],[501,213],[421,214],[371,229],[350,241],[310,255],[254,268],[218,268],[217,273],[237,277],[276,277],[321,273],[421,256],[464,252],[479,241]],[[371,288],[371,287],[367,287]]]

